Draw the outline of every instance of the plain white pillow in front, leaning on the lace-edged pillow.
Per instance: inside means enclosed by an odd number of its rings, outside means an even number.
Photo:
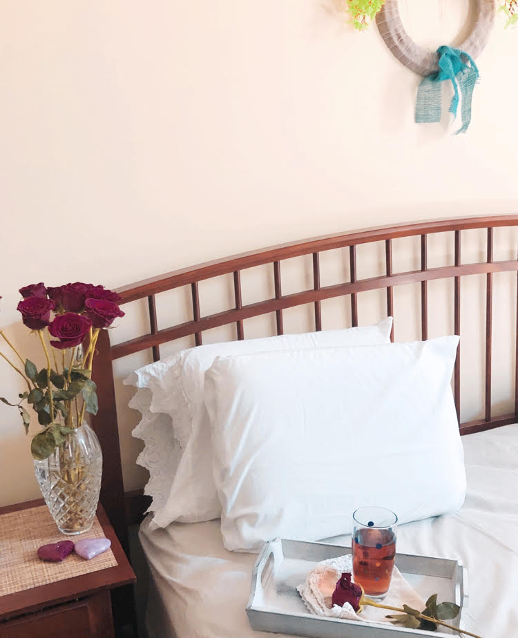
[[[218,358],[205,374],[229,550],[457,510],[466,476],[450,380],[459,338]]]

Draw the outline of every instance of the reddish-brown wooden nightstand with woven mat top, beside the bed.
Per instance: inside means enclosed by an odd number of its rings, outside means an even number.
[[[93,529],[78,537],[51,523],[43,500],[0,508],[0,638],[115,636],[110,590],[136,579],[102,505]],[[36,557],[45,542],[92,536],[110,539],[111,549],[91,561],[74,553],[61,563]]]

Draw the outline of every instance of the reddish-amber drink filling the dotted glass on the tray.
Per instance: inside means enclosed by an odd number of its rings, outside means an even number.
[[[352,571],[365,594],[382,596],[390,586],[396,535],[388,530],[356,530],[352,539]]]

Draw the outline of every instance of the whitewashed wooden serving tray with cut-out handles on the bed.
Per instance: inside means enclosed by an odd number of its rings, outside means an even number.
[[[251,627],[309,638],[411,638],[412,636],[451,637],[448,628],[434,632],[407,629],[382,623],[325,618],[310,614],[296,586],[308,572],[330,558],[350,554],[351,548],[327,543],[305,543],[276,539],[265,543],[252,572],[247,615]],[[466,568],[461,561],[396,553],[396,566],[423,600],[438,594],[439,602],[452,601],[461,612],[452,626],[459,626],[466,608]],[[391,612],[387,610],[387,614]]]

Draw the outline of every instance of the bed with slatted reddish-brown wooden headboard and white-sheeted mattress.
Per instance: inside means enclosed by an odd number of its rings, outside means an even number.
[[[153,360],[160,360],[160,345],[192,335],[195,345],[202,345],[204,331],[222,325],[235,325],[237,340],[243,340],[244,321],[266,313],[275,313],[278,335],[282,335],[283,312],[300,305],[311,305],[314,330],[323,327],[323,301],[350,298],[350,325],[362,324],[358,317],[358,296],[367,291],[384,290],[387,316],[398,321],[394,307],[394,287],[416,283],[420,289],[420,338],[428,339],[430,311],[430,282],[452,280],[453,294],[448,309],[452,313],[454,334],[461,336],[461,347],[453,371],[454,409],[461,416],[461,352],[470,343],[461,334],[461,280],[479,275],[485,279],[485,303],[481,309],[484,321],[483,348],[483,416],[461,423],[463,447],[466,455],[468,490],[461,510],[447,516],[427,518],[401,525],[398,550],[408,553],[459,557],[468,566],[470,597],[466,629],[495,638],[516,635],[518,615],[513,604],[518,585],[513,578],[518,573],[515,525],[518,505],[515,498],[518,472],[515,458],[518,449],[517,398],[518,376],[513,379],[514,409],[502,414],[492,402],[494,365],[492,362],[493,283],[495,273],[515,273],[518,260],[515,246],[512,258],[495,260],[495,232],[518,226],[517,215],[499,215],[463,220],[439,220],[404,226],[368,229],[354,233],[294,242],[202,264],[175,273],[138,282],[119,289],[124,302],[146,300],[149,331],[117,345],[111,345],[104,332],[99,339],[99,363],[96,381],[99,387],[99,414],[94,427],[104,449],[105,463],[102,502],[122,540],[127,543],[128,512],[132,516],[142,512],[148,501],[141,494],[124,496],[122,467],[119,452],[117,411],[115,408],[115,380],[113,362],[146,349]],[[465,263],[461,258],[461,239],[464,231],[482,229],[486,237],[483,259]],[[430,238],[439,233],[452,235],[452,262],[429,267]],[[395,271],[393,242],[399,238],[419,240],[419,269]],[[356,262],[357,248],[381,242],[384,248],[385,272],[382,275],[359,278]],[[347,251],[349,280],[332,285],[320,284],[320,254],[334,250]],[[290,258],[309,255],[312,263],[312,285],[287,295],[282,294],[281,264]],[[260,302],[242,302],[241,273],[244,269],[270,265],[274,280],[274,297]],[[201,316],[199,282],[229,275],[233,281],[235,305],[218,313]],[[158,294],[188,286],[191,289],[192,319],[165,329],[158,329]],[[516,286],[516,282],[515,282]],[[433,309],[436,311],[437,309]],[[508,318],[516,334],[516,317]],[[500,325],[500,323],[499,323]],[[392,339],[394,333],[391,334]],[[513,349],[516,349],[516,340]],[[501,403],[501,402],[500,402]],[[460,418],[459,418],[460,421]],[[466,436],[467,435],[467,436]],[[148,626],[153,636],[189,637],[245,637],[260,635],[249,628],[244,612],[249,595],[251,570],[256,556],[253,553],[229,552],[224,549],[218,519],[200,523],[171,523],[165,529],[153,528],[148,516],[142,523],[140,540],[151,567],[151,594],[148,606]],[[332,542],[349,544],[350,537],[334,537]],[[127,546],[127,545],[126,545]],[[473,574],[476,576],[473,577]]]

